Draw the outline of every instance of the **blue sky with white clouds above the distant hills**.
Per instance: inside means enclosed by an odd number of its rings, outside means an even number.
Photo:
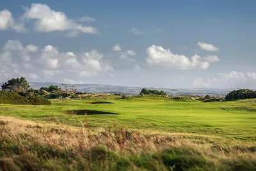
[[[0,82],[255,88],[256,1],[0,1]]]

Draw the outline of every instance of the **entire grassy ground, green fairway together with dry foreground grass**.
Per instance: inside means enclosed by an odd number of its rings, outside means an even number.
[[[112,98],[52,100],[50,106],[0,104],[0,133],[6,134],[1,145],[6,152],[0,155],[8,158],[2,166],[9,168],[255,170],[255,123],[255,100]],[[21,164],[25,154],[26,166]],[[32,156],[41,159],[31,161]]]

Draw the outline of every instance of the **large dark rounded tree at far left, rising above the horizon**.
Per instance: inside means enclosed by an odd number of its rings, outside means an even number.
[[[25,93],[29,90],[30,85],[24,77],[12,78],[1,85],[3,91],[11,91],[18,93]]]

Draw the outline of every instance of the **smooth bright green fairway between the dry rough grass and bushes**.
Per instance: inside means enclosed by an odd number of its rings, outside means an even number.
[[[92,101],[112,103],[90,104]],[[69,115],[64,110],[99,110],[114,114]],[[256,104],[246,101],[64,100],[50,106],[0,105],[0,115],[90,128],[121,127],[196,133],[256,141]]]

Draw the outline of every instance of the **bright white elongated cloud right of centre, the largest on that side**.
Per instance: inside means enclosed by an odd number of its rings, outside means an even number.
[[[148,47],[146,53],[148,64],[172,69],[206,69],[209,67],[210,63],[216,62],[216,59],[213,60],[212,57],[208,57],[211,59],[209,60],[207,57],[202,58],[198,55],[195,55],[189,59],[183,55],[172,54],[170,49],[164,49],[163,47],[158,47],[156,45]]]

